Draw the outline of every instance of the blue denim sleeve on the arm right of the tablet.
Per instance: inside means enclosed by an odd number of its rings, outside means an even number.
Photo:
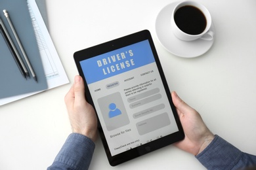
[[[241,169],[256,166],[256,156],[246,154],[218,135],[196,158],[207,169]]]

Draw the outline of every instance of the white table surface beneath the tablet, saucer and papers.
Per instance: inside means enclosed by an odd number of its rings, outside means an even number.
[[[64,95],[77,75],[77,50],[148,29],[165,76],[213,131],[256,154],[256,1],[203,1],[216,29],[212,48],[180,58],[156,36],[158,12],[173,1],[47,0],[49,31],[71,83],[0,107],[0,169],[46,169],[71,133]],[[173,44],[175,45],[175,44]],[[111,167],[100,139],[90,169],[205,169],[194,156],[166,146]]]

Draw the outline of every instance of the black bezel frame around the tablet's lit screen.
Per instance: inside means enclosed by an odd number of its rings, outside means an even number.
[[[163,69],[161,67],[160,59],[158,58],[158,54],[156,52],[154,42],[150,35],[150,31],[148,31],[148,30],[139,31],[137,33],[133,33],[131,35],[127,35],[125,37],[121,37],[121,38],[115,39],[113,41],[104,42],[102,44],[98,44],[96,46],[92,46],[92,47],[86,48],[84,50],[79,50],[74,53],[75,64],[77,66],[79,75],[81,75],[83,77],[83,80],[85,82],[85,95],[86,95],[85,97],[86,97],[87,101],[91,105],[93,105],[93,107],[95,109],[95,105],[93,103],[91,93],[89,92],[89,88],[87,86],[87,82],[85,80],[85,76],[83,75],[83,71],[82,71],[82,68],[81,68],[81,65],[79,62],[83,61],[84,59],[92,58],[92,57],[98,56],[100,54],[104,54],[106,52],[117,50],[124,46],[129,46],[131,44],[135,44],[136,42],[140,42],[140,41],[144,41],[144,40],[148,40],[150,42],[150,47],[154,54],[154,59],[156,60],[156,64],[157,64],[158,70],[160,72],[161,80],[163,82],[163,86],[165,87],[165,91],[167,93],[167,97],[169,99],[171,109],[173,110],[173,115],[175,117],[175,121],[177,123],[179,131],[172,133],[170,135],[167,135],[165,137],[161,137],[160,139],[157,139],[155,141],[151,141],[150,143],[143,144],[142,146],[138,146],[137,148],[132,148],[131,150],[127,150],[126,152],[122,152],[121,154],[117,154],[116,156],[112,156],[110,154],[110,149],[108,148],[108,143],[106,141],[103,129],[102,129],[101,124],[98,119],[98,131],[100,134],[100,138],[104,145],[104,149],[105,149],[106,155],[108,157],[108,161],[109,161],[110,165],[112,165],[112,166],[118,165],[120,163],[131,160],[133,158],[137,158],[139,156],[147,154],[148,152],[152,152],[154,150],[162,148],[163,146],[167,146],[169,144],[172,144],[172,143],[175,143],[177,141],[181,141],[182,139],[184,139],[184,131],[182,129],[181,122],[180,122],[179,116],[177,114],[177,110],[176,110],[175,106],[173,105],[173,101],[171,99],[171,92],[169,91],[169,87],[167,85],[167,81],[165,79]],[[98,117],[98,115],[97,115],[97,117]]]

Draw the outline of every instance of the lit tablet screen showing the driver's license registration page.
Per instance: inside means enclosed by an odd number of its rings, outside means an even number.
[[[149,39],[79,60],[111,156],[179,131],[157,61]]]

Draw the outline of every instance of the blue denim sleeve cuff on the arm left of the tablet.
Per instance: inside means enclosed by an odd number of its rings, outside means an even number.
[[[71,133],[47,170],[88,169],[95,150],[95,143],[85,135]]]

